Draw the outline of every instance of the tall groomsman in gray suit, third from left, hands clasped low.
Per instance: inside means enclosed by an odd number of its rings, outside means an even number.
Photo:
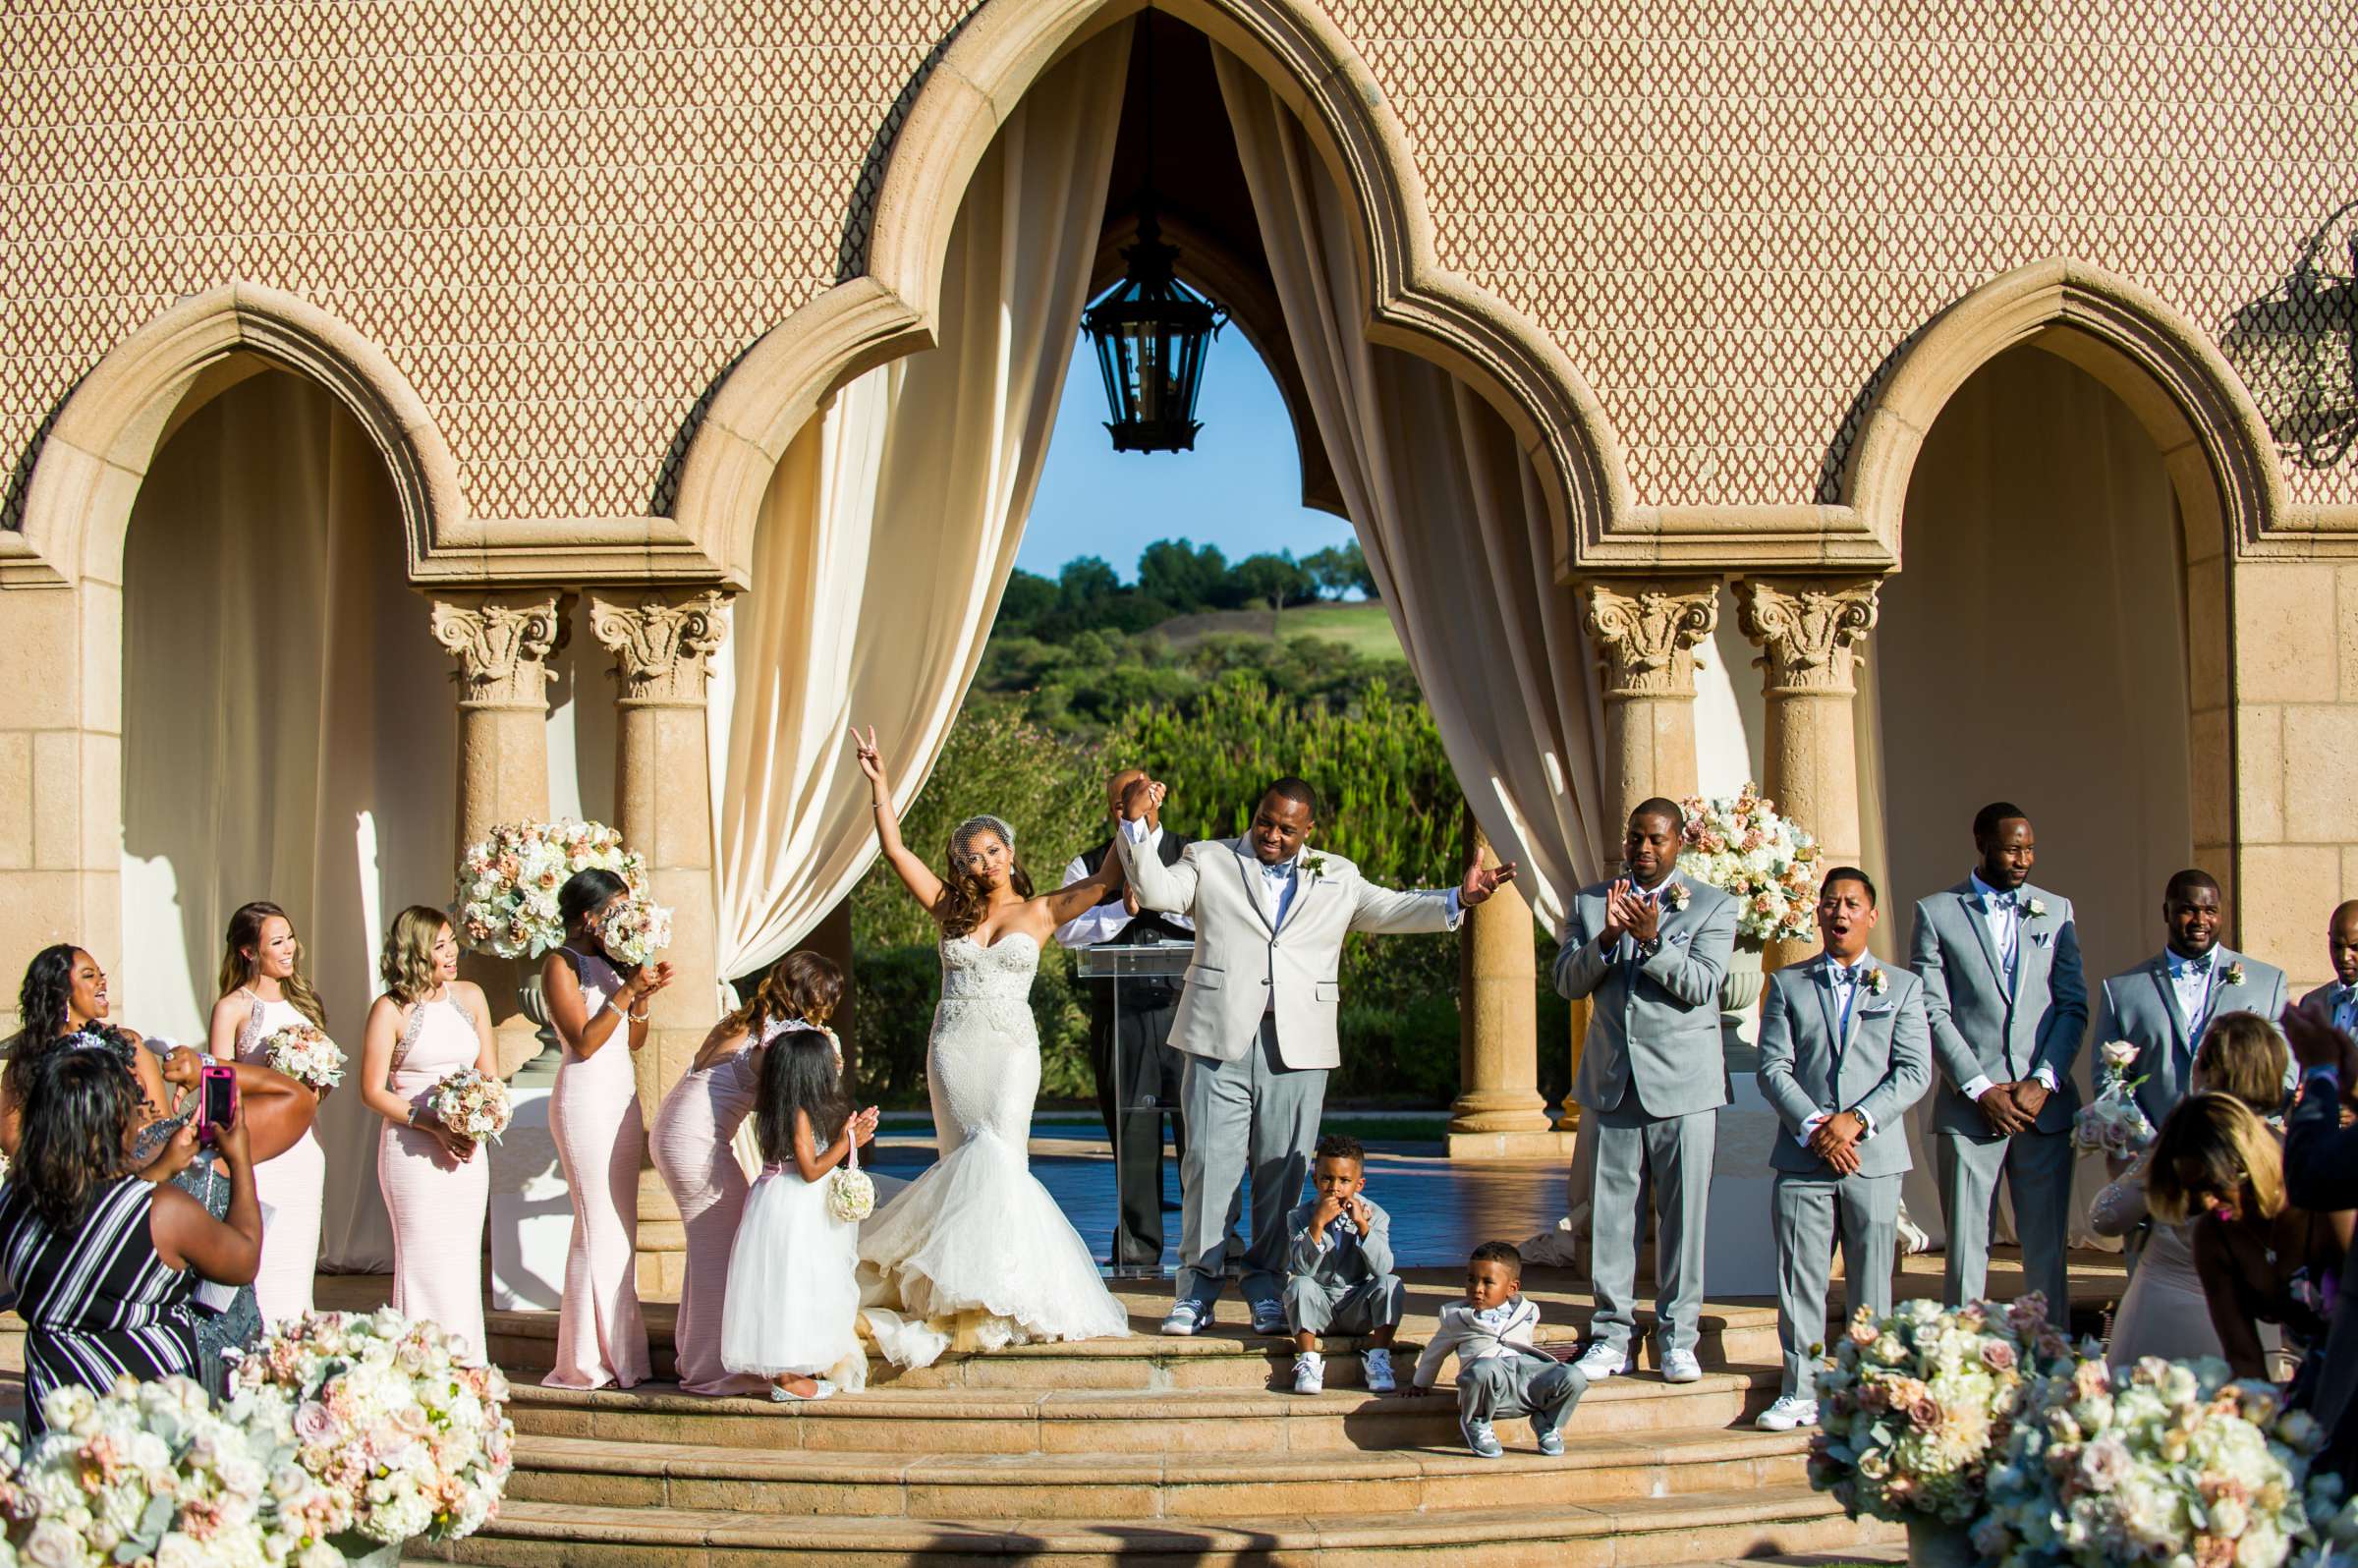
[[[2021,806],[1983,806],[1974,849],[1981,863],[1964,882],[1917,901],[1910,938],[1938,1068],[1941,1299],[1957,1306],[1985,1294],[1990,1207],[2004,1177],[2023,1285],[2044,1292],[2061,1323],[2070,1311],[2070,1118],[2080,1108],[2070,1070],[2087,1033],[2080,934],[2070,901],[2030,882],[2037,835]]]

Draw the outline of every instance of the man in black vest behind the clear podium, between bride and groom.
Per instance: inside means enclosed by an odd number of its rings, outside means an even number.
[[[1122,792],[1144,778],[1122,769],[1106,780],[1108,816],[1120,816]],[[1158,813],[1148,823],[1160,825]],[[1162,863],[1172,865],[1191,844],[1177,832],[1162,835]],[[1063,868],[1071,887],[1096,875],[1113,839],[1073,856]],[[1196,922],[1186,915],[1158,915],[1139,908],[1137,889],[1099,903],[1056,927],[1066,948],[1104,943],[1193,943]],[[1096,1070],[1096,1111],[1113,1139],[1118,1217],[1113,1221],[1115,1269],[1155,1269],[1162,1264],[1162,1115],[1172,1118],[1177,1146],[1186,1148],[1179,1122],[1179,1070],[1184,1056],[1170,1047],[1172,1016],[1179,1012],[1179,976],[1137,976],[1120,981],[1122,1007],[1115,1014],[1115,981],[1082,981],[1089,993],[1089,1066]]]

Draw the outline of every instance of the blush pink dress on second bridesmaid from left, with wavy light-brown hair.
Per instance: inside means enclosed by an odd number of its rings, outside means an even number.
[[[394,1047],[394,1094],[424,1108],[427,1092],[453,1068],[472,1068],[481,1042],[474,1016],[448,997],[420,1002]],[[472,1356],[483,1342],[483,1214],[490,1207],[490,1153],[476,1148],[453,1165],[443,1146],[415,1127],[384,1122],[377,1134],[377,1186],[394,1219],[394,1311],[439,1323]]]

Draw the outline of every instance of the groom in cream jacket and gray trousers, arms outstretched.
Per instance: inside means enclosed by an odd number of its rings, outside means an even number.
[[[1196,962],[1179,993],[1172,1045],[1186,1158],[1179,1162],[1179,1290],[1165,1335],[1212,1327],[1221,1287],[1221,1233],[1252,1170],[1252,1245],[1245,1299],[1252,1332],[1285,1332],[1285,1214],[1302,1195],[1335,1040],[1337,964],[1349,931],[1450,931],[1469,905],[1514,879],[1514,865],[1469,865],[1453,889],[1398,894],[1361,879],[1342,856],[1304,849],[1318,795],[1299,778],[1269,785],[1240,839],[1188,844],[1165,865],[1148,816],[1165,788],[1151,778],[1122,797],[1113,835],[1139,903],[1196,922]]]

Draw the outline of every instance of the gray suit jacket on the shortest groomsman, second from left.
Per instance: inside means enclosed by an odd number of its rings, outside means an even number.
[[[1802,1177],[1825,1177],[1832,1167],[1809,1153],[1802,1125],[1813,1115],[1865,1111],[1875,1137],[1858,1144],[1860,1177],[1896,1177],[1908,1158],[1908,1106],[1931,1087],[1931,1026],[1924,1019],[1924,983],[1891,964],[1875,964],[1884,995],[1860,990],[1851,1004],[1851,1033],[1837,1047],[1842,1004],[1827,979],[1825,955],[1778,969],[1761,1000],[1761,1094],[1776,1108],[1776,1146],[1768,1165]]]

